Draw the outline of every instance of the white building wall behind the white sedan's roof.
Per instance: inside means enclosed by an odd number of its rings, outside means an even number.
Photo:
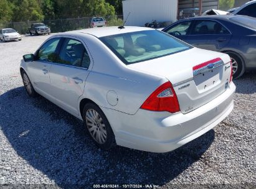
[[[125,25],[143,26],[146,22],[175,22],[178,0],[125,0],[123,1],[123,19]]]

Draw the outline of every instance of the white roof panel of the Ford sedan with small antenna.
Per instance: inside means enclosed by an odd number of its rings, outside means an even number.
[[[149,27],[136,27],[136,26],[125,26],[123,29],[118,29],[118,26],[111,26],[111,27],[95,27],[90,29],[82,29],[82,30],[75,30],[70,32],[65,32],[65,34],[90,34],[94,35],[95,37],[105,37],[108,35],[117,35],[117,34],[125,34],[130,32],[139,32],[143,30],[155,30]]]

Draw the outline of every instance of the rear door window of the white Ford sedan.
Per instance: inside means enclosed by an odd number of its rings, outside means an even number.
[[[88,69],[90,58],[80,41],[67,38],[62,45],[57,62]]]

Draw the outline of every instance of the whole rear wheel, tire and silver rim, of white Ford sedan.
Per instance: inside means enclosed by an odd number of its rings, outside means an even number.
[[[115,145],[115,135],[103,111],[93,103],[85,104],[83,122],[90,138],[103,150]]]

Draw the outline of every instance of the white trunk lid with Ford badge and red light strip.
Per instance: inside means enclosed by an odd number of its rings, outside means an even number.
[[[229,86],[231,73],[229,55],[199,48],[128,67],[171,81],[184,114],[222,94]]]

